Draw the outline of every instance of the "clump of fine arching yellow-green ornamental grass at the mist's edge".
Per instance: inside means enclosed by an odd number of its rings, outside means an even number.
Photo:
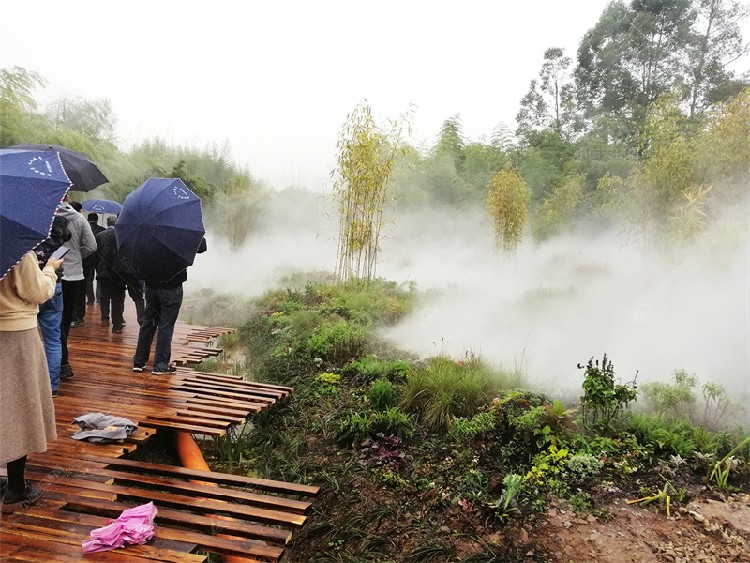
[[[453,418],[473,416],[508,382],[508,374],[479,357],[457,362],[438,356],[407,375],[401,406],[428,429],[446,431]]]

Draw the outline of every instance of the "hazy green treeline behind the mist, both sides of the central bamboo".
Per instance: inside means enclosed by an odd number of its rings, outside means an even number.
[[[500,124],[489,139],[468,140],[455,115],[432,147],[402,147],[391,177],[397,205],[487,205],[501,239],[500,224],[518,228],[521,218],[537,240],[590,218],[661,239],[702,232],[723,204],[747,203],[750,77],[730,70],[748,58],[743,17],[734,0],[612,2],[575,64],[562,49],[545,52],[515,130]],[[108,100],[65,98],[40,111],[34,92],[44,85],[34,71],[0,69],[0,146],[85,152],[110,179],[98,197],[120,202],[148,177],[179,177],[209,218],[221,218],[217,229],[244,241],[264,189],[228,145],[157,138],[123,152]]]

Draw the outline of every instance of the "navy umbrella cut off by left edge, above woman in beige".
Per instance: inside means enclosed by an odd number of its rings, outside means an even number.
[[[0,279],[49,236],[70,186],[58,153],[0,149]]]

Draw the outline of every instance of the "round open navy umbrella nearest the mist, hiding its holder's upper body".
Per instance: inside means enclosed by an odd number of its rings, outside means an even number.
[[[115,224],[118,260],[145,281],[168,281],[195,260],[201,200],[179,178],[149,178],[128,194]]]

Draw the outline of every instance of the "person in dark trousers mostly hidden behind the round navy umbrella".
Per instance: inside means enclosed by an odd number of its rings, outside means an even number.
[[[201,239],[198,252],[206,251],[206,239]],[[140,321],[138,345],[133,357],[133,371],[142,372],[146,368],[151,353],[151,344],[156,335],[154,350],[154,375],[173,373],[172,335],[177,316],[182,306],[182,284],[187,280],[187,270],[183,270],[165,282],[147,281],[145,289],[146,308]]]

